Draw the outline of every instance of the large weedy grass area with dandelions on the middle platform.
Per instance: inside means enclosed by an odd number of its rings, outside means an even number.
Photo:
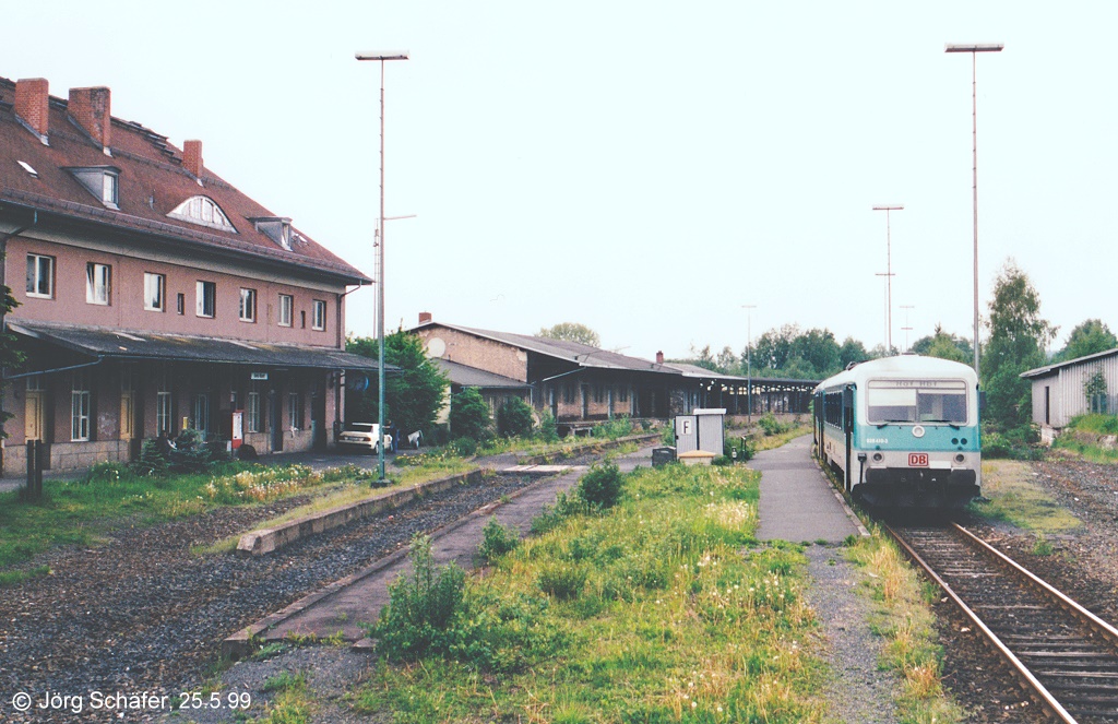
[[[466,581],[443,648],[380,664],[350,701],[396,722],[823,722],[797,548],[757,548],[758,476],[642,469],[608,511]]]

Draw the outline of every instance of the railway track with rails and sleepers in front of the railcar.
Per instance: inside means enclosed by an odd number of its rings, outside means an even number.
[[[959,525],[887,529],[1055,721],[1118,722],[1118,630]]]

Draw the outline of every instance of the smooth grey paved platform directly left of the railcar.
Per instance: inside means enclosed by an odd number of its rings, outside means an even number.
[[[749,461],[761,471],[761,540],[842,543],[866,535],[841,495],[812,459],[812,438],[796,438]]]

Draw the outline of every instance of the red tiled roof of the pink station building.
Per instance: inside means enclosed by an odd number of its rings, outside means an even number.
[[[106,156],[100,145],[69,120],[67,101],[49,101],[49,145],[25,128],[12,109],[16,84],[0,78],[0,209],[7,206],[34,208],[68,219],[107,225],[153,235],[164,241],[187,242],[215,252],[248,255],[284,266],[324,273],[349,284],[370,283],[361,271],[295,229],[292,250],[284,250],[249,218],[283,216],[274,214],[241,194],[210,169],[202,169],[202,186],[182,166],[182,151],[167,137],[139,123],[112,119]],[[31,176],[18,161],[31,166]],[[74,167],[115,167],[120,169],[120,210],[101,204],[64,170]],[[193,196],[212,199],[237,233],[174,219],[168,216]]]

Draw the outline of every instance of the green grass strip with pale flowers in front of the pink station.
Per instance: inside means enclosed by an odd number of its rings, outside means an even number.
[[[0,568],[51,546],[95,544],[121,525],[145,527],[361,477],[352,467],[315,472],[306,466],[225,463],[211,472],[152,478],[102,463],[80,480],[45,480],[39,502],[20,501],[18,492],[0,493]]]

